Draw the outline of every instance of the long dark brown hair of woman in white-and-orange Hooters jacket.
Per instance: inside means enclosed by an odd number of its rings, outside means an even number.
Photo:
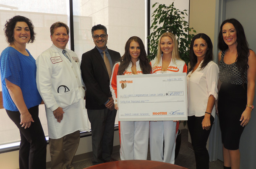
[[[132,41],[138,42],[138,44],[141,47],[141,54],[139,55],[139,61],[140,61],[140,67],[143,74],[150,74],[152,71],[152,68],[149,64],[149,59],[146,57],[146,50],[144,47],[144,44],[141,40],[141,38],[137,36],[132,36],[127,40],[125,43],[125,53],[120,58],[120,66],[118,68],[118,75],[123,75],[123,72],[125,69],[129,66],[131,63],[131,55],[130,55],[130,43]],[[133,63],[132,63],[133,64]]]

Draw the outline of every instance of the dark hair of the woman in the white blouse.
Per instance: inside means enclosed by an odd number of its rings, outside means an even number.
[[[199,33],[197,35],[195,35],[191,41],[191,45],[190,45],[190,51],[189,51],[189,58],[190,58],[190,68],[188,70],[188,72],[192,71],[193,68],[196,66],[197,63],[197,57],[194,53],[193,50],[193,46],[194,46],[194,42],[196,39],[202,38],[205,40],[205,42],[207,43],[207,48],[208,50],[206,51],[205,57],[204,57],[204,61],[201,64],[201,68],[200,70],[204,69],[204,67],[213,59],[213,53],[212,53],[212,40],[209,38],[209,36],[207,36],[204,33]]]

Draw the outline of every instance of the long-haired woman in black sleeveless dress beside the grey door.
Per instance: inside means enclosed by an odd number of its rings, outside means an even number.
[[[225,20],[219,32],[219,121],[224,169],[240,168],[239,141],[251,118],[256,79],[256,55],[248,48],[243,26]]]

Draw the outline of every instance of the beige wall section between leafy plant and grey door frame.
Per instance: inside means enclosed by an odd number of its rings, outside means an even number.
[[[214,43],[215,0],[190,0],[189,27],[208,35]]]

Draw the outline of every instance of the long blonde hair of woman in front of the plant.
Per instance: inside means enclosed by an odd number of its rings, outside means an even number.
[[[160,47],[160,43],[161,43],[162,37],[165,37],[165,36],[169,36],[172,39],[172,41],[173,41],[172,62],[176,63],[175,62],[176,60],[181,60],[180,59],[180,54],[179,54],[179,49],[178,49],[178,41],[177,41],[175,35],[173,33],[166,32],[166,33],[163,33],[160,36],[159,40],[158,40],[157,57],[156,57],[157,61],[154,64],[154,66],[156,66],[156,65],[158,65],[160,63],[160,59],[161,59],[161,56],[162,56],[162,50],[161,50],[161,47]]]

